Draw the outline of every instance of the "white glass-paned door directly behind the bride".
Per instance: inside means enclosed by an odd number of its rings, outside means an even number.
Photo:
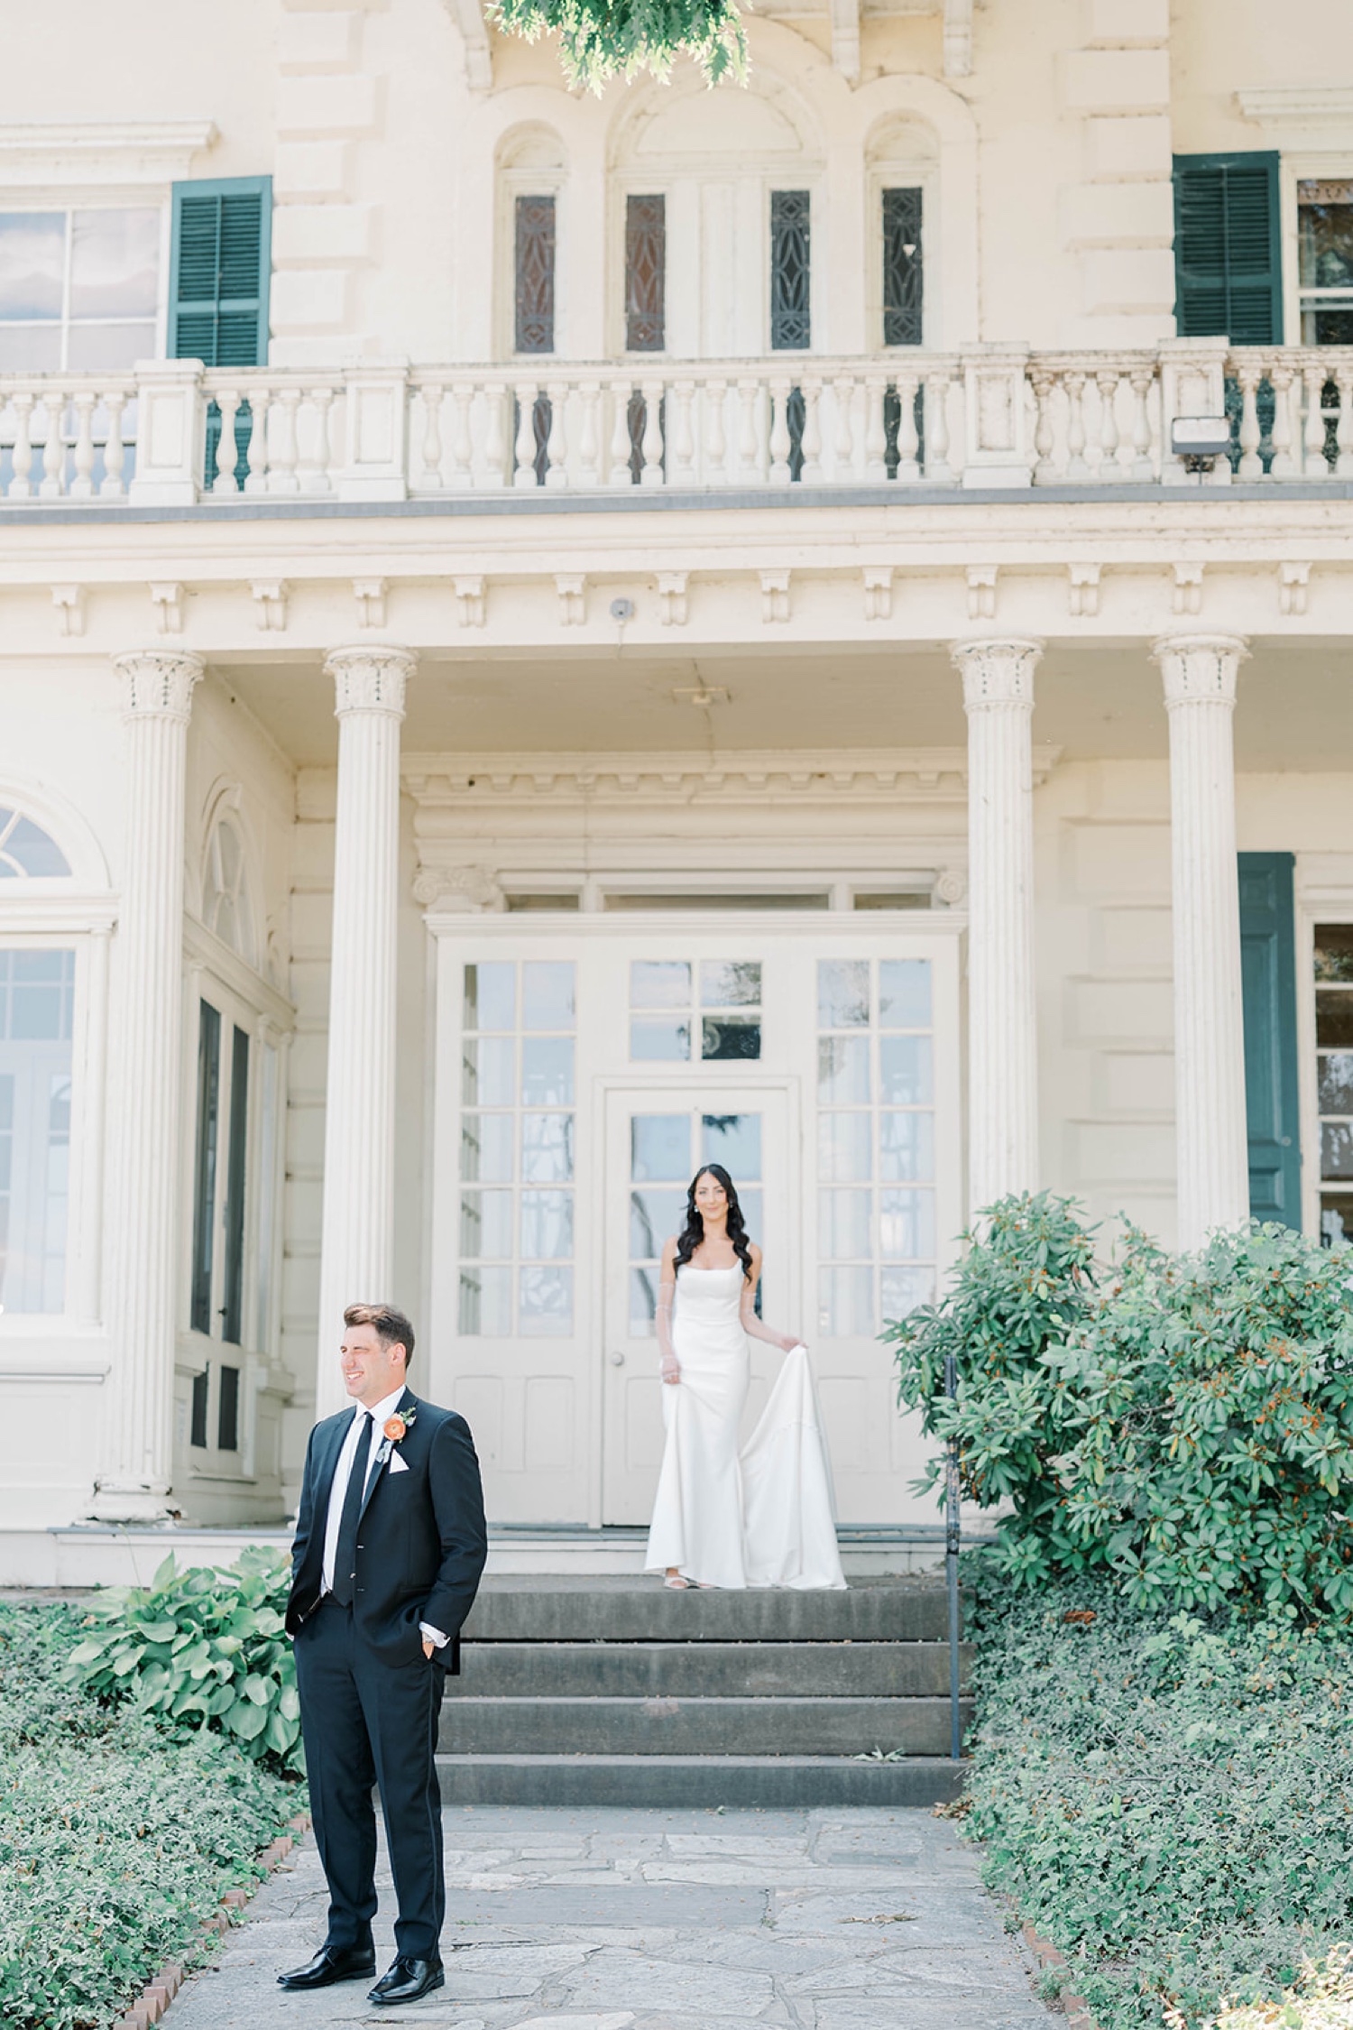
[[[686,1222],[686,1192],[702,1163],[730,1173],[749,1236],[765,1255],[763,1315],[797,1330],[791,1253],[797,1200],[797,1121],[787,1082],[704,1088],[625,1086],[607,1092],[604,1214],[604,1498],[607,1522],[647,1522],[663,1449],[655,1305],[663,1242]],[[791,1319],[793,1313],[793,1319]],[[753,1348],[749,1419],[779,1366]],[[749,1423],[751,1429],[751,1423]]]

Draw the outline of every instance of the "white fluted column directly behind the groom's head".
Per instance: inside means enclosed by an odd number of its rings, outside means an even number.
[[[343,1305],[394,1299],[400,721],[414,664],[404,648],[339,648],[325,662],[339,721],[339,802],[318,1295],[321,1417],[343,1401],[337,1372]]]

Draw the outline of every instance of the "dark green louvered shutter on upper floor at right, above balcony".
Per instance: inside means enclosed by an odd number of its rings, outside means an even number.
[[[1174,156],[1174,329],[1282,345],[1278,156]]]

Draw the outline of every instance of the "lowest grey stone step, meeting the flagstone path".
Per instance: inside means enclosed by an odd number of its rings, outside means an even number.
[[[964,1762],[909,1756],[479,1756],[436,1758],[446,1809],[456,1805],[657,1805],[813,1811],[941,1805],[964,1788]],[[450,1835],[454,1839],[454,1829]]]

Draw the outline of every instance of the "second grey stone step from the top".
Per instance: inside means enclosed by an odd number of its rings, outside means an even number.
[[[972,1650],[962,1648],[964,1685]],[[947,1642],[467,1642],[450,1699],[949,1693]]]

